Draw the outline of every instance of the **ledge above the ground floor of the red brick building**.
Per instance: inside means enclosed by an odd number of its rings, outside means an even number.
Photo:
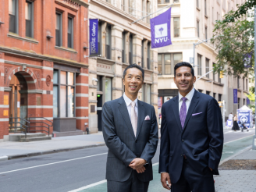
[[[30,59],[36,59],[39,61],[49,61],[49,62],[56,62],[56,63],[61,63],[63,65],[69,65],[69,66],[76,66],[76,67],[83,67],[83,68],[88,68],[89,65],[81,62],[73,62],[68,59],[61,59],[61,58],[56,58],[55,56],[52,55],[39,55],[36,53],[32,52],[24,52],[21,50],[13,49],[13,48],[6,48],[6,47],[1,47],[0,46],[0,52],[4,52],[9,55],[16,55],[20,57],[27,57]]]

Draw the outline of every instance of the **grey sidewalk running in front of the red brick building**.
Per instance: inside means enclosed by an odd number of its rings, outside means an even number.
[[[31,142],[7,141],[0,143],[0,161],[104,145],[102,132],[89,135],[52,137],[52,140]]]

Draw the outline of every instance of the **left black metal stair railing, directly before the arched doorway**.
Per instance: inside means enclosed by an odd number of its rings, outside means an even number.
[[[20,121],[18,121],[18,119],[20,119]],[[26,122],[27,125],[22,121]],[[25,138],[27,138],[27,130],[30,129],[29,121],[20,117],[10,117],[9,124],[11,124],[11,126],[9,126],[9,133],[24,133]]]

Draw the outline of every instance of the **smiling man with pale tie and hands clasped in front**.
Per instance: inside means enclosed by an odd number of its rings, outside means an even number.
[[[137,99],[143,83],[144,69],[127,66],[123,96],[102,108],[108,192],[146,192],[153,180],[151,159],[158,145],[158,122],[155,108]]]

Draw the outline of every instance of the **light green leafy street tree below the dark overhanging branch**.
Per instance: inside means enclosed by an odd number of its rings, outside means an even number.
[[[234,15],[236,16],[236,12],[231,10],[225,18],[236,18]],[[248,67],[254,66],[254,21],[241,19],[233,22],[216,21],[213,35],[212,43],[215,44],[218,52],[217,62],[213,66],[215,72],[248,76],[254,71],[252,67]]]

